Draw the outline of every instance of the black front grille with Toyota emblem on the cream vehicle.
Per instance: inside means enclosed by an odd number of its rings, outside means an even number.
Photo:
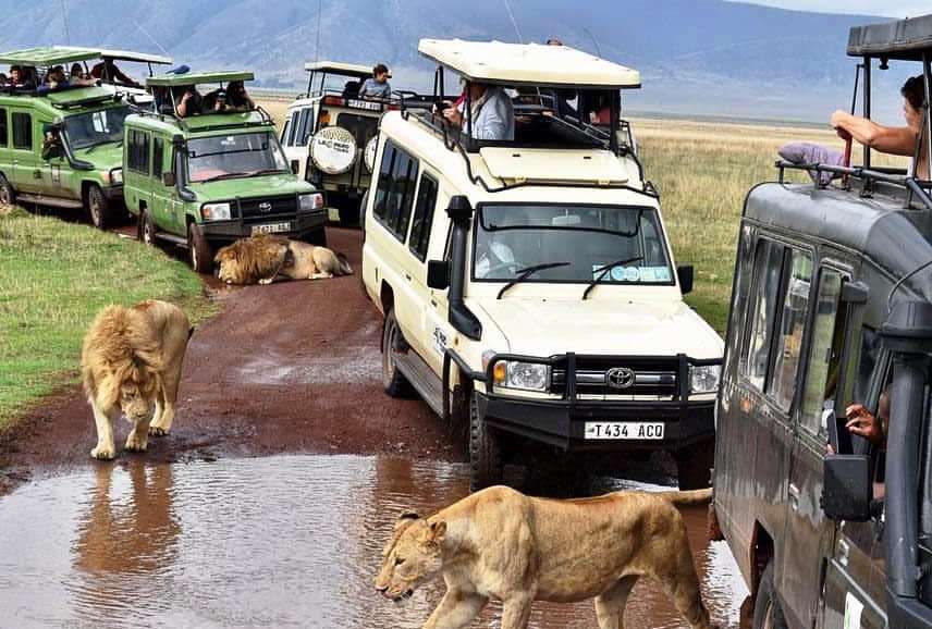
[[[630,386],[616,387],[609,383],[608,373],[615,368],[634,371]],[[579,398],[657,398],[674,399],[678,393],[677,372],[679,360],[672,358],[577,358],[576,395]],[[551,372],[551,392],[566,395],[565,366],[556,366]]]

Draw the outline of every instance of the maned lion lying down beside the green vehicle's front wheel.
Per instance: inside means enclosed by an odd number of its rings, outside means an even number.
[[[277,276],[319,280],[351,275],[342,255],[327,247],[261,234],[236,240],[217,252],[218,276],[228,284],[269,284]]]

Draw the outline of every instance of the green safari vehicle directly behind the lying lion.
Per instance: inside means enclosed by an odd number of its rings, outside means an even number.
[[[218,247],[260,233],[327,244],[323,195],[289,168],[265,110],[177,113],[198,85],[219,86],[204,103],[225,102],[231,82],[252,79],[252,72],[149,77],[155,109],[126,119],[125,200],[138,217],[139,239],[186,247],[201,273],[212,269]]]

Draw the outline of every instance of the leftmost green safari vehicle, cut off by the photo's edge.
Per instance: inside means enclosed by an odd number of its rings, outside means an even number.
[[[85,210],[98,227],[124,215],[123,122],[130,108],[99,85],[38,88],[39,71],[99,58],[89,49],[0,54],[22,82],[0,89],[0,201]],[[9,73],[12,74],[12,73]]]

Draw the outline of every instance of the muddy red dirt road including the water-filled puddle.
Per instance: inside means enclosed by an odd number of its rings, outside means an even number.
[[[329,236],[358,269],[358,232]],[[441,582],[404,605],[371,585],[394,518],[466,495],[468,469],[424,403],[382,392],[381,322],[358,276],[211,289],[223,311],[194,335],[179,419],[148,453],[91,460],[76,388],[0,443],[0,627],[416,628],[439,601]],[[662,465],[584,491],[675,484]],[[734,560],[706,541],[703,508],[686,519],[713,620],[736,627]],[[626,620],[685,627],[650,581]],[[538,605],[531,622],[594,626],[589,602]]]

